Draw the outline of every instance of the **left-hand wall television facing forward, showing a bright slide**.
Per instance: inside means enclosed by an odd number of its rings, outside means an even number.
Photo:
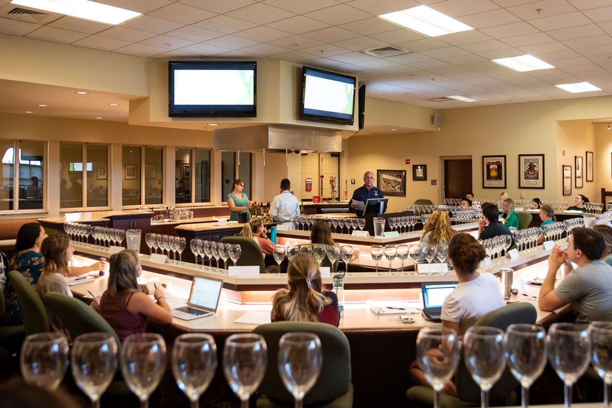
[[[169,61],[169,117],[256,117],[255,61]]]

